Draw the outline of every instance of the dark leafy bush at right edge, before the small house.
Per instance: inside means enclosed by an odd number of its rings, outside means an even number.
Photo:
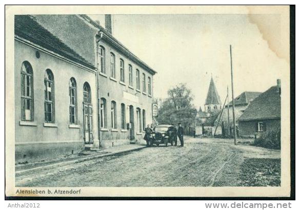
[[[254,145],[259,147],[265,147],[270,149],[281,148],[281,129],[272,130],[263,133],[261,136],[254,140]]]

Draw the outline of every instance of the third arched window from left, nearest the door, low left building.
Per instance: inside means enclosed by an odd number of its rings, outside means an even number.
[[[77,85],[73,77],[69,81],[69,97],[70,124],[77,124]]]

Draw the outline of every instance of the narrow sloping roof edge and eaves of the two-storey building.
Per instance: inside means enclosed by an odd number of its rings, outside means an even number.
[[[84,20],[86,20],[89,24],[94,26],[95,28],[99,29],[100,33],[105,34],[104,38],[107,39],[107,41],[110,41],[114,44],[115,48],[117,48],[119,51],[123,52],[126,56],[131,58],[133,61],[135,61],[137,64],[144,67],[146,70],[150,71],[153,75],[157,72],[154,71],[149,65],[147,65],[144,61],[139,59],[137,56],[135,56],[129,49],[126,48],[120,41],[118,41],[114,36],[112,36],[111,33],[109,33],[105,28],[103,28],[101,25],[97,24],[96,21],[91,19],[88,15],[81,14],[81,16]],[[99,34],[99,35],[103,35]]]

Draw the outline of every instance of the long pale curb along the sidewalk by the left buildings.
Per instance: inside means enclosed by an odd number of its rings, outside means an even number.
[[[15,171],[15,175],[16,174],[22,174],[22,173],[28,172],[28,171],[34,171],[34,170],[37,170],[37,169],[47,169],[47,168],[51,168],[53,166],[66,166],[66,165],[69,165],[69,164],[77,164],[78,162],[92,160],[92,159],[96,159],[96,158],[100,158],[100,157],[106,157],[106,156],[112,156],[112,155],[117,155],[117,154],[123,154],[123,153],[126,153],[126,152],[133,152],[133,151],[141,150],[141,149],[144,149],[144,148],[146,148],[146,146],[142,146],[142,147],[138,147],[138,148],[134,148],[134,149],[129,149],[129,150],[121,150],[121,151],[111,152],[111,153],[106,153],[106,154],[101,154],[101,155],[94,155],[94,156],[84,157],[84,158],[80,158],[80,159],[76,159],[76,160],[69,160],[69,161],[64,161],[64,162],[58,162],[56,164],[50,164],[50,165],[47,165],[47,166],[39,166],[39,167],[31,168],[31,169],[25,169],[25,170],[21,170],[21,171]]]

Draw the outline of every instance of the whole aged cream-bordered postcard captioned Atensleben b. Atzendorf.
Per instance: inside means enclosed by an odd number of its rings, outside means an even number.
[[[6,196],[289,197],[289,6],[6,6]]]

